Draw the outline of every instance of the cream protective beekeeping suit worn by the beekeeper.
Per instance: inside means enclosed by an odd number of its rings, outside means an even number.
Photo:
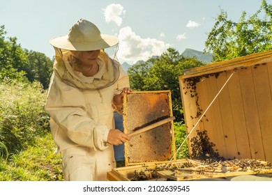
[[[64,180],[107,180],[107,171],[115,167],[113,147],[106,143],[114,129],[112,102],[114,94],[129,87],[128,75],[101,51],[98,72],[85,77],[70,67],[70,52],[55,49],[45,109],[62,155]]]

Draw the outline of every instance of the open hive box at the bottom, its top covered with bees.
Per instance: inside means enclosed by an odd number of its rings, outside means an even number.
[[[203,164],[191,159],[177,159],[171,164],[157,162],[120,167],[108,172],[107,178],[111,181],[231,180],[236,176],[256,174],[270,178],[271,173],[272,166],[269,162],[256,159],[234,159],[213,164]]]

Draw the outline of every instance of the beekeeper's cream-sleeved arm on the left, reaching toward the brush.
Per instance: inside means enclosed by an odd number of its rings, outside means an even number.
[[[84,102],[80,89],[68,86],[54,77],[47,97],[46,111],[73,142],[94,150],[105,150],[108,147],[105,140],[108,127],[87,116]]]

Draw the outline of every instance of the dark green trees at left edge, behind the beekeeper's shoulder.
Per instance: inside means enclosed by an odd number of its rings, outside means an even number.
[[[0,80],[39,81],[48,88],[52,63],[43,53],[23,49],[17,38],[6,38],[4,26],[0,26]]]

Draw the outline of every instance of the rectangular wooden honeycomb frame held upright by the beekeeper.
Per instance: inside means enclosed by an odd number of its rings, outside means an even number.
[[[123,97],[123,126],[126,134],[171,116],[170,91],[135,91]],[[126,166],[171,159],[175,152],[173,120],[131,137],[124,149]]]

